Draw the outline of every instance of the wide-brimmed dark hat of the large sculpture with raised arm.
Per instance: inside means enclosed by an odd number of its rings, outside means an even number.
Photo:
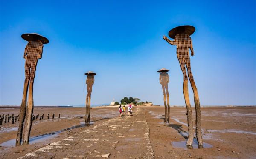
[[[177,34],[192,35],[195,32],[194,26],[178,26],[169,31],[168,35],[174,39]]]

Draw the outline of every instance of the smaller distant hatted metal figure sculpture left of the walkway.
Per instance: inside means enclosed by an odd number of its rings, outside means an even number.
[[[89,71],[85,73],[87,75],[86,84],[87,84],[87,96],[86,96],[86,114],[85,114],[85,124],[90,124],[90,96],[92,94],[93,84],[94,84],[94,75],[96,73]]]

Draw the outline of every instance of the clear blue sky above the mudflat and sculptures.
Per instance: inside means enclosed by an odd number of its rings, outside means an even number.
[[[92,104],[138,97],[163,105],[160,68],[169,69],[171,105],[184,105],[176,47],[163,35],[195,26],[192,73],[201,105],[256,105],[255,0],[1,0],[0,105],[20,105],[24,48],[20,35],[44,35],[34,83],[35,105]],[[193,103],[190,89],[190,99]]]

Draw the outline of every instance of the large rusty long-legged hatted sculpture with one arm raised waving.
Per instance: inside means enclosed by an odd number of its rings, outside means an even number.
[[[189,127],[189,137],[186,145],[191,146],[194,138],[192,109],[189,102],[189,93],[188,93],[188,77],[189,77],[189,81],[194,92],[195,113],[196,113],[196,137],[198,140],[198,147],[202,148],[203,141],[202,141],[202,133],[201,133],[200,102],[198,97],[198,90],[196,88],[195,81],[191,72],[190,58],[189,58],[189,49],[191,50],[191,56],[194,55],[192,40],[189,37],[194,32],[195,32],[195,28],[193,26],[178,26],[169,31],[169,37],[174,39],[174,41],[169,40],[166,36],[163,36],[163,39],[166,40],[171,45],[177,45],[177,57],[180,62],[180,67],[184,75],[183,94],[184,94],[187,113],[188,113],[187,119],[188,119],[188,127]],[[186,68],[187,68],[188,76],[186,74]]]

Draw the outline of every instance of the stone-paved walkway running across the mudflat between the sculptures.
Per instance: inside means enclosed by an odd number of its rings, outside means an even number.
[[[145,111],[115,117],[28,153],[25,159],[154,159]]]

